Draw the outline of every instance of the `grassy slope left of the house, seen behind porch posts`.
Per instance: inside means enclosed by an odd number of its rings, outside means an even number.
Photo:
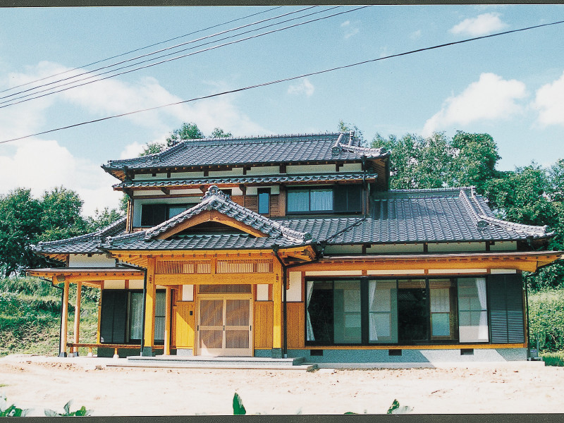
[[[95,342],[98,307],[95,292],[82,292],[80,342]],[[76,288],[69,293],[68,340],[74,332]],[[57,355],[61,290],[39,278],[0,280],[0,355],[27,353]],[[81,354],[86,350],[80,351]]]

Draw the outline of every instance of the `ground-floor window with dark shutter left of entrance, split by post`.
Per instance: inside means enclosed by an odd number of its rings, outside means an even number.
[[[157,291],[154,340],[164,341],[166,294]],[[143,293],[128,290],[102,291],[102,343],[140,343],[143,331]]]

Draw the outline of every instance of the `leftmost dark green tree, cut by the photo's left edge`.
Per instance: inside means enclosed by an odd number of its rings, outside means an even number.
[[[31,190],[17,188],[0,196],[0,269],[8,277],[37,263],[30,245],[41,232],[42,207]]]

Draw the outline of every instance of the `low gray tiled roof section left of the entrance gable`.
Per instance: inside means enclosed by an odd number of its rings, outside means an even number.
[[[126,218],[124,216],[99,231],[87,233],[86,235],[75,236],[73,238],[67,238],[66,240],[39,242],[37,245],[33,245],[32,248],[36,252],[51,254],[102,253],[104,251],[99,250],[99,245],[107,236],[115,236],[123,233],[125,231],[125,220]]]

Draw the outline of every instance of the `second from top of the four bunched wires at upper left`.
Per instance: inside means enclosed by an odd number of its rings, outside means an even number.
[[[86,71],[86,72],[78,73],[78,75],[69,76],[68,78],[62,78],[62,79],[59,79],[59,80],[47,82],[47,83],[42,84],[42,85],[37,85],[37,86],[35,86],[35,87],[28,88],[27,90],[22,90],[22,91],[19,91],[19,92],[14,92],[13,94],[8,94],[8,95],[5,95],[4,97],[0,97],[0,99],[6,99],[6,98],[8,98],[8,97],[13,97],[13,96],[18,95],[18,94],[23,94],[24,92],[30,92],[30,91],[33,91],[33,90],[37,90],[38,88],[41,88],[41,87],[47,87],[48,85],[53,85],[53,84],[56,84],[57,82],[63,82],[63,81],[65,81],[65,80],[70,80],[70,79],[78,78],[79,76],[87,75],[87,74],[89,74],[89,73],[94,73],[94,72],[97,72],[97,71],[102,71],[102,69],[113,68],[114,66],[121,65],[122,63],[127,63],[127,62],[129,62],[129,61],[134,61],[134,60],[137,60],[137,59],[142,59],[143,57],[152,56],[152,55],[154,55],[154,54],[161,53],[162,51],[167,51],[167,50],[171,50],[171,49],[177,49],[178,47],[182,47],[182,46],[185,46],[185,45],[187,45],[187,44],[192,44],[192,43],[194,43],[194,42],[198,42],[198,41],[202,41],[202,40],[204,40],[204,39],[216,37],[217,35],[225,34],[225,33],[227,33],[227,32],[233,32],[233,31],[236,31],[236,30],[243,29],[243,28],[245,28],[245,27],[249,27],[249,26],[252,26],[252,25],[257,25],[257,24],[259,24],[259,23],[264,23],[264,22],[267,22],[267,21],[269,21],[269,20],[278,19],[278,18],[283,18],[283,16],[293,15],[294,13],[300,13],[300,12],[302,12],[302,11],[306,11],[306,10],[308,10],[308,9],[310,9],[310,8],[316,8],[316,7],[319,7],[319,6],[309,6],[309,7],[306,7],[306,8],[302,8],[302,9],[300,9],[299,11],[292,11],[292,12],[288,12],[288,13],[283,13],[282,15],[274,16],[273,18],[267,18],[267,19],[263,19],[263,20],[258,20],[257,22],[254,22],[254,23],[248,23],[247,25],[242,25],[242,26],[240,26],[240,27],[231,28],[230,30],[224,30],[224,31],[221,31],[221,32],[216,32],[215,34],[207,35],[206,37],[200,37],[200,38],[197,38],[197,39],[192,39],[191,41],[183,42],[183,43],[181,43],[181,44],[176,44],[175,46],[166,47],[165,49],[160,49],[160,50],[157,50],[157,51],[152,51],[151,53],[142,54],[141,56],[136,56],[136,57],[133,57],[133,58],[131,58],[131,59],[126,59],[126,60],[123,60],[123,61],[118,61],[118,62],[116,62],[116,63],[112,63],[111,65],[106,65],[106,66],[102,66],[102,67],[100,67],[100,68],[92,69],[92,71]],[[336,7],[342,7],[342,6],[336,6]],[[329,9],[329,10],[330,10],[330,9]],[[321,12],[317,12],[317,13],[321,13]],[[306,15],[306,16],[310,16],[310,15]],[[283,22],[287,22],[287,21],[283,21]],[[282,22],[282,23],[283,23],[283,22]],[[273,25],[276,25],[276,24],[273,24]],[[264,27],[263,27],[263,28],[264,28]],[[262,28],[260,28],[260,29],[262,29]],[[243,33],[245,33],[245,32],[243,32]],[[224,39],[225,39],[225,38],[224,38]],[[221,41],[221,40],[220,40],[220,41]],[[203,44],[203,45],[205,45],[205,44]],[[180,50],[180,51],[185,51],[185,50]],[[180,51],[176,51],[176,52],[171,53],[171,54],[176,54],[176,53],[179,53]],[[170,55],[170,54],[168,54],[168,55]],[[149,59],[149,60],[147,60],[147,61],[157,60],[157,59],[159,59],[160,57],[165,57],[165,56],[167,56],[167,55],[159,56],[159,57],[157,57],[157,58]],[[140,63],[145,63],[145,61],[141,61],[141,62],[136,63],[136,64],[140,64]],[[126,67],[128,67],[128,66],[124,66],[124,67],[122,67],[122,68],[114,69],[113,71],[108,71],[108,72],[104,72],[104,73],[99,73],[98,75],[105,75],[106,73],[111,73],[111,72],[114,72],[114,71],[117,71],[117,70],[119,70],[119,69],[123,69],[123,68],[126,68]],[[71,72],[71,71],[76,71],[76,70],[78,70],[78,69],[79,69],[79,68],[74,68],[74,69],[71,69],[70,71],[64,71],[64,72],[61,72],[61,73],[56,74],[56,75],[61,75],[62,73],[68,73],[68,72]],[[97,75],[94,75],[94,76],[97,76]],[[88,77],[88,78],[82,78],[82,79],[80,79],[80,80],[85,80],[85,79],[89,79],[89,78],[94,78],[94,76],[91,76],[91,77]],[[51,78],[51,77],[46,77],[46,78]],[[42,79],[46,79],[46,78],[42,78]],[[48,90],[51,90],[51,89],[54,89],[54,88],[57,88],[57,87],[63,87],[64,85],[68,85],[68,84],[71,84],[71,83],[74,83],[74,82],[78,82],[78,81],[80,81],[80,80],[67,82],[67,83],[61,84],[61,85],[56,85],[55,87],[51,87],[51,88],[49,88],[49,89],[47,89],[47,90],[42,90],[42,91],[39,91],[39,92],[45,92],[45,91],[48,91]],[[21,85],[20,85],[20,86],[21,86]],[[10,90],[11,90],[11,89],[10,89]],[[6,91],[6,90],[5,90],[5,91]],[[24,96],[22,96],[22,97],[16,97],[15,99],[22,99],[22,98],[25,98],[25,97],[29,97],[30,95],[35,95],[35,94],[38,94],[39,92],[35,92],[35,93],[32,93],[32,94],[25,94]],[[5,102],[1,102],[0,104],[4,104],[4,103],[7,103],[7,102],[11,102],[11,101],[13,101],[13,100],[15,100],[15,99],[6,100]]]

